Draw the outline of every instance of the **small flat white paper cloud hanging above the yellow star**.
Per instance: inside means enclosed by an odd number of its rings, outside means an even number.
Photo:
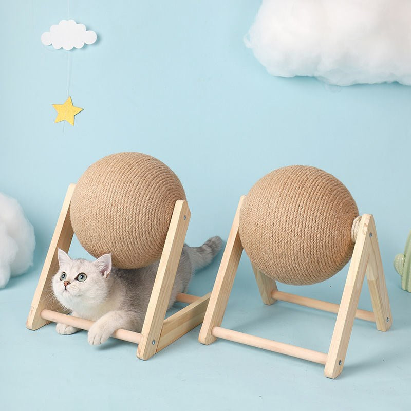
[[[85,44],[93,44],[97,40],[94,31],[86,30],[84,24],[77,24],[74,20],[62,20],[59,24],[53,24],[50,31],[42,34],[42,43],[50,44],[54,48],[71,50],[73,47],[82,48]]]

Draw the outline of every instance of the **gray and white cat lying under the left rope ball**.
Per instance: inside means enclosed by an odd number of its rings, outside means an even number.
[[[195,269],[211,263],[221,249],[221,238],[212,237],[201,247],[184,244],[169,307],[176,295],[186,292]],[[119,328],[141,332],[148,301],[159,262],[138,269],[111,267],[111,255],[95,261],[71,259],[58,251],[59,271],[53,276],[52,287],[58,301],[73,316],[95,321],[88,331],[88,342],[99,345]],[[59,334],[73,334],[79,328],[58,323]]]

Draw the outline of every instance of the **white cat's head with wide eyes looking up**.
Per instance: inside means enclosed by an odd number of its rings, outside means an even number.
[[[72,311],[104,303],[110,286],[107,277],[111,271],[111,255],[87,261],[71,259],[59,249],[58,257],[60,267],[53,276],[52,286],[60,303]]]

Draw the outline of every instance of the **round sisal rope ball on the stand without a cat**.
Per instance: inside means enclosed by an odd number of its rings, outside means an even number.
[[[351,258],[358,208],[344,184],[315,167],[293,165],[258,180],[240,210],[251,263],[286,284],[324,281]]]

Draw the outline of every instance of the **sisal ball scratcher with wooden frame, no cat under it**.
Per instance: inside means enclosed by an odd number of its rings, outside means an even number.
[[[265,304],[279,300],[337,313],[328,353],[221,327],[243,248]],[[277,289],[276,281],[324,281],[350,258],[340,305]],[[357,309],[365,274],[373,312]],[[373,216],[360,217],[346,187],[322,170],[297,165],[267,174],[240,198],[199,341],[221,338],[313,361],[325,366],[326,377],[335,378],[343,369],[356,317],[375,322],[380,331],[392,321]]]

